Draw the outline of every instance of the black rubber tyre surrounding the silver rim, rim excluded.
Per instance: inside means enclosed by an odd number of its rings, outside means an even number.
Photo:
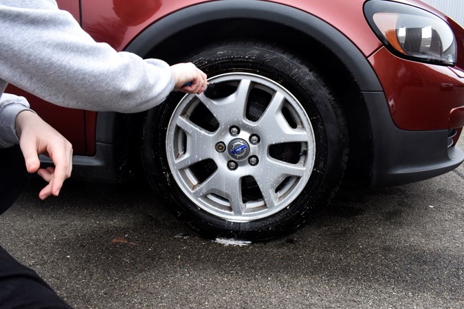
[[[144,122],[142,161],[148,182],[179,218],[208,238],[262,241],[295,231],[331,201],[346,168],[346,122],[342,108],[329,87],[309,63],[269,43],[217,43],[186,60],[194,62],[208,77],[227,72],[255,73],[289,90],[311,119],[316,139],[313,172],[302,194],[289,207],[267,218],[230,222],[203,211],[179,189],[166,159],[166,128],[183,97],[180,93],[173,93],[164,104],[148,111]]]

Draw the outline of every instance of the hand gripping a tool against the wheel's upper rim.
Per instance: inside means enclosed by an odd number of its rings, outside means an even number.
[[[208,86],[206,74],[191,62],[171,65],[170,69],[173,72],[175,91],[200,94]],[[188,82],[191,84],[185,86]]]

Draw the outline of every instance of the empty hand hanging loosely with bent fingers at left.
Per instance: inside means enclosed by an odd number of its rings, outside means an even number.
[[[65,179],[71,176],[72,146],[63,135],[44,122],[32,111],[22,111],[16,116],[16,133],[23,152],[27,172],[37,172],[48,185],[38,194],[44,200],[58,196]],[[38,155],[47,155],[55,168],[40,168]]]

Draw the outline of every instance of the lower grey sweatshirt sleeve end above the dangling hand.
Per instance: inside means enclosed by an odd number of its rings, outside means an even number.
[[[16,116],[22,111],[31,111],[25,98],[8,93],[0,96],[0,148],[19,144]]]

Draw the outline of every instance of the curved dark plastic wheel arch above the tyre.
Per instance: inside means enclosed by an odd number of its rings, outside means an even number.
[[[311,53],[305,48],[309,44],[300,41],[305,39],[337,55],[361,91],[382,91],[371,65],[349,38],[316,16],[278,3],[237,0],[193,5],[156,21],[124,50],[178,60],[195,47],[230,38],[261,38]]]

